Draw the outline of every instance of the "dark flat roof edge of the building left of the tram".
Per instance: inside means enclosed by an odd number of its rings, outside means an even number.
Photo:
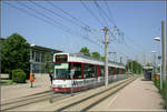
[[[48,52],[51,52],[51,51],[53,51],[53,52],[62,52],[60,50],[46,48],[46,47],[41,47],[41,45],[35,45],[35,44],[30,44],[30,48],[32,48],[33,50],[48,51]]]

